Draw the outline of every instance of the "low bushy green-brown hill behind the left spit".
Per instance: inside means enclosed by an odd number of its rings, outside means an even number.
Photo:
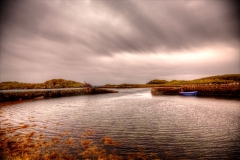
[[[1,82],[0,90],[3,89],[51,89],[51,88],[78,88],[86,84],[65,79],[52,79],[44,83]]]

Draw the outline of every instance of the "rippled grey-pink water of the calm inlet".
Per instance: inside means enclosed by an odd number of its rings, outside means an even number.
[[[239,158],[240,101],[116,90],[119,93],[46,99],[0,110],[12,124],[46,126],[34,130],[49,137],[68,131],[77,138],[92,129],[97,137],[121,142],[121,153],[140,146],[162,159]]]

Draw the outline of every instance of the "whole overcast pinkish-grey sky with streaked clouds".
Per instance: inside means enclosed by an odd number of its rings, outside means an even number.
[[[0,82],[92,85],[240,73],[229,0],[1,1]]]

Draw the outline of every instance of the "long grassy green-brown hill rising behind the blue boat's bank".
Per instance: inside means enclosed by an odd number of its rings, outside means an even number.
[[[146,84],[117,84],[111,85],[106,84],[103,87],[106,88],[144,88],[144,87],[166,87],[166,86],[183,86],[183,85],[239,85],[240,84],[240,74],[226,74],[219,76],[204,77],[194,80],[159,80],[154,79]]]

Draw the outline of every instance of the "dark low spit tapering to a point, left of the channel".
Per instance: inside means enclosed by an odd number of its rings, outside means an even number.
[[[118,91],[100,89],[100,88],[82,88],[82,89],[52,90],[52,91],[4,92],[4,93],[0,93],[0,102],[67,97],[67,96],[77,96],[77,95],[90,95],[90,94],[117,93],[117,92]]]

